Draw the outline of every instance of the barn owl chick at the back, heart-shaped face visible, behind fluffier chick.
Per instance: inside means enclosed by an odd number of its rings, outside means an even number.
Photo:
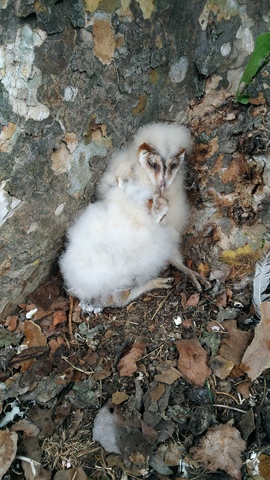
[[[99,198],[128,182],[150,189],[151,197],[162,195],[168,202],[166,224],[178,232],[179,242],[187,226],[189,206],[184,187],[183,160],[192,148],[192,138],[181,125],[157,123],[142,127],[127,149],[116,153],[98,185]],[[209,287],[207,280],[183,264],[180,251],[169,263],[188,275],[196,288]]]

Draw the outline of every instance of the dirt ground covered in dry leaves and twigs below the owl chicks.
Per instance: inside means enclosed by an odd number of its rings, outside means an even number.
[[[269,370],[251,382],[241,364],[251,282],[164,275],[172,290],[90,316],[56,276],[3,322],[1,478],[270,478]]]

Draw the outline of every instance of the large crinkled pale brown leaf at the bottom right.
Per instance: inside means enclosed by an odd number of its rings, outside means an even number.
[[[215,425],[201,438],[198,447],[190,452],[195,460],[207,466],[210,472],[224,470],[233,478],[241,480],[241,454],[246,442],[240,432],[231,425]]]

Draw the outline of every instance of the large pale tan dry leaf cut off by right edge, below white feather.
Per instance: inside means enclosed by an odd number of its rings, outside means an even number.
[[[240,365],[253,381],[270,367],[270,302],[261,303],[261,321]]]

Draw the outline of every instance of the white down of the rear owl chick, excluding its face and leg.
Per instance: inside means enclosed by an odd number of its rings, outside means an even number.
[[[132,144],[116,152],[104,175],[97,186],[99,199],[108,198],[115,188],[118,178],[124,181],[134,180],[151,192],[150,197],[156,193],[156,184],[152,184],[148,172],[138,161],[138,148],[141,144],[148,143],[157,150],[164,159],[173,158],[180,149],[190,153],[192,137],[189,130],[177,124],[151,123],[139,129]],[[179,240],[188,223],[189,205],[184,187],[185,169],[180,167],[172,185],[164,192],[168,200],[169,210],[166,215],[167,225],[178,231]]]

